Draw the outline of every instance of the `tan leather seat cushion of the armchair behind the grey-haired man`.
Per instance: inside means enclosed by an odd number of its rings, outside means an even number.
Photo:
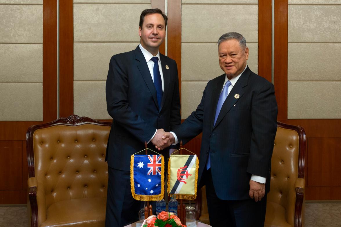
[[[281,205],[267,201],[264,227],[292,227],[286,222],[286,210]]]

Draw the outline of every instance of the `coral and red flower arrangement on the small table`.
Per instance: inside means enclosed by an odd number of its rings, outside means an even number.
[[[161,211],[158,216],[149,216],[142,224],[141,227],[187,227],[183,225],[180,218],[174,215],[174,213],[168,213]]]

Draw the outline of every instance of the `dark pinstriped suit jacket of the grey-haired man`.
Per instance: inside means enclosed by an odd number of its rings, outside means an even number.
[[[211,155],[211,173],[217,196],[223,200],[248,199],[251,174],[266,177],[270,186],[271,156],[277,131],[277,102],[273,85],[249,67],[239,77],[213,125],[225,74],[210,80],[202,100],[173,132],[188,142],[203,132],[199,179]],[[235,96],[236,94],[239,97]]]

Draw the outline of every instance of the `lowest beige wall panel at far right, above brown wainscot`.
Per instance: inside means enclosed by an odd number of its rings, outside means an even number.
[[[341,82],[288,82],[288,119],[341,118]]]

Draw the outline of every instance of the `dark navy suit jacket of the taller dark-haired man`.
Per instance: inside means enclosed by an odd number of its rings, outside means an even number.
[[[177,65],[161,53],[160,61],[164,91],[159,109],[155,86],[139,46],[110,59],[105,91],[113,124],[105,159],[112,168],[129,171],[131,155],[144,149],[144,142],[150,140],[156,129],[169,131],[180,125]],[[155,150],[151,143],[148,147]],[[165,157],[167,152],[162,151]]]

